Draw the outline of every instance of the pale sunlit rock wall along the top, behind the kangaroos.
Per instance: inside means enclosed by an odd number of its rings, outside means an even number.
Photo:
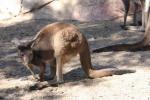
[[[123,9],[122,0],[0,0],[0,20],[23,13],[36,19],[108,20],[122,16]]]

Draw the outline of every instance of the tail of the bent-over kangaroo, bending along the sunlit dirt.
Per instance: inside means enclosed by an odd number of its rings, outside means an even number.
[[[111,76],[114,74],[125,74],[125,73],[133,73],[134,70],[115,70],[115,69],[94,69],[91,64],[91,56],[89,51],[89,46],[85,38],[83,38],[83,44],[81,45],[81,50],[79,52],[80,62],[83,70],[87,74],[89,78],[100,78],[104,76]]]

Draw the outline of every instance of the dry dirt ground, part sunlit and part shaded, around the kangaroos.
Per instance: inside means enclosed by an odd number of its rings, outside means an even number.
[[[0,23],[0,100],[149,100],[150,51],[91,53],[92,64],[97,68],[127,68],[135,73],[88,79],[81,69],[79,57],[64,67],[65,83],[36,88],[38,82],[17,57],[15,38],[28,40],[52,20],[29,20],[18,23]],[[78,22],[87,37],[90,50],[117,43],[132,43],[143,33],[120,28],[122,20]],[[48,67],[48,66],[47,66]],[[38,69],[34,69],[38,73]],[[46,77],[48,77],[48,68]],[[45,82],[48,82],[45,81]]]

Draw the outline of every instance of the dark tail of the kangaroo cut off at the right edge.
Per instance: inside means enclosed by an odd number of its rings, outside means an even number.
[[[103,51],[137,51],[137,50],[143,50],[146,46],[148,46],[149,43],[150,43],[150,18],[148,19],[148,23],[145,29],[145,34],[142,40],[133,44],[116,44],[104,48],[98,48],[93,50],[93,52],[98,53]],[[150,48],[148,47],[147,49]]]

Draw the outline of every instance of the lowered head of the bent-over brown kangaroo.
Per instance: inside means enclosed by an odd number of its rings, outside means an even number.
[[[18,45],[18,55],[21,58],[23,64],[30,64],[33,59],[31,42],[21,43],[20,45]]]

